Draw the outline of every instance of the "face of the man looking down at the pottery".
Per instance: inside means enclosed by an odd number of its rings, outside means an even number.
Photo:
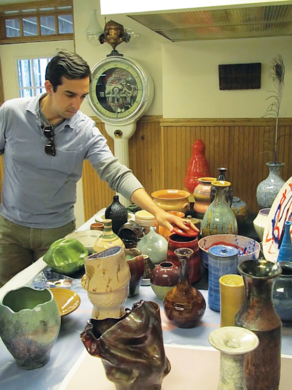
[[[57,86],[56,92],[50,81],[45,86],[50,96],[50,111],[54,119],[70,119],[79,110],[81,103],[89,93],[89,77],[70,80],[62,77],[62,84]]]

